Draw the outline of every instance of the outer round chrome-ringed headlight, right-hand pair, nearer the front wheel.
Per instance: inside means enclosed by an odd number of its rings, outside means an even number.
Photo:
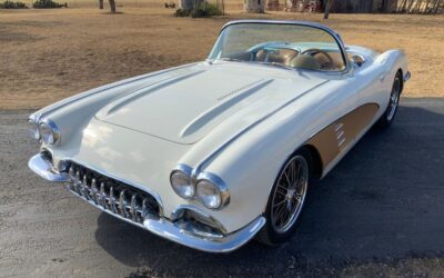
[[[199,201],[208,209],[220,210],[230,203],[230,190],[225,182],[214,173],[201,172],[198,176],[195,195]],[[204,189],[214,190],[214,195],[209,198],[209,196],[203,196]],[[213,202],[214,205],[211,205]]]

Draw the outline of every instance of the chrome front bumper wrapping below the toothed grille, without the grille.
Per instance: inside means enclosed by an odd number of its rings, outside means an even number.
[[[68,173],[58,172],[53,168],[52,162],[40,153],[33,156],[29,160],[28,165],[32,171],[49,181],[70,181]],[[265,225],[265,218],[260,216],[238,231],[221,235],[220,237],[214,237],[213,235],[205,236],[204,232],[194,232],[193,229],[189,229],[190,225],[183,222],[183,220],[180,221],[181,219],[174,219],[174,221],[171,221],[164,216],[150,217],[148,214],[142,220],[134,221],[131,218],[124,217],[124,214],[117,214],[117,211],[110,210],[107,206],[101,205],[94,199],[87,198],[84,195],[75,192],[75,190],[70,189],[70,191],[98,209],[114,216],[115,218],[144,228],[174,242],[208,252],[233,251],[250,241]]]

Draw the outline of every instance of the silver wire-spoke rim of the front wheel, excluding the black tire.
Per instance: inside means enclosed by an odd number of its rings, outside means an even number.
[[[305,200],[309,165],[304,157],[293,157],[282,170],[273,192],[271,224],[279,232],[287,231],[296,221]]]

